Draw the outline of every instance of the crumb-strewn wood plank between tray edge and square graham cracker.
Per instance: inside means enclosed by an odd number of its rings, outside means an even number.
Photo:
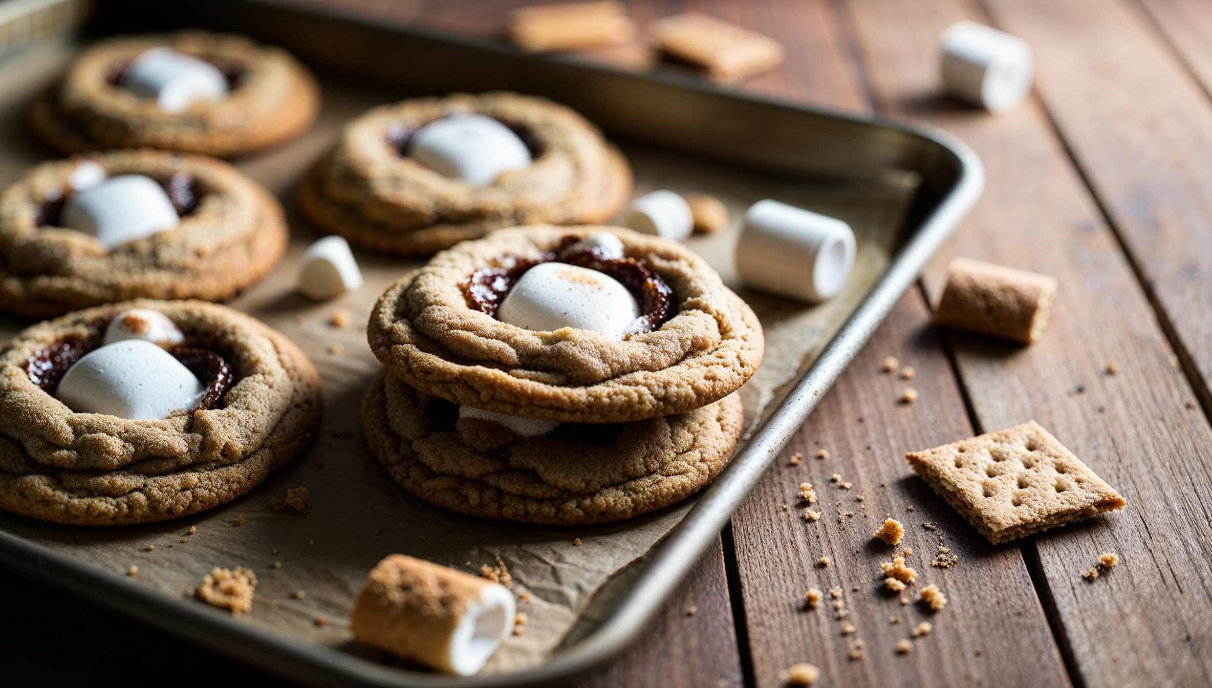
[[[779,686],[779,672],[797,661],[821,666],[829,686],[1068,686],[1018,549],[990,545],[907,468],[905,451],[972,430],[928,320],[921,293],[905,294],[733,516],[759,687]],[[917,377],[908,382],[885,372],[888,355],[915,367]],[[898,402],[907,384],[921,392],[916,403]],[[829,458],[817,458],[822,448]],[[804,454],[800,465],[788,463],[795,452]],[[835,472],[851,489],[830,481]],[[814,486],[819,521],[800,515],[802,481]],[[854,515],[839,516],[839,501]],[[897,547],[871,538],[886,515],[907,529]],[[959,557],[954,568],[931,567],[938,541],[924,523],[944,534]],[[949,598],[942,612],[931,614],[919,602],[903,606],[885,589],[879,564],[904,547],[913,550],[908,562],[917,571],[904,595],[915,600],[934,583]],[[829,566],[819,563],[822,556]],[[841,586],[846,619],[836,618],[828,595],[817,609],[806,609],[810,586]],[[920,621],[932,623],[933,632],[913,641],[908,655],[898,654],[897,641],[910,638]],[[853,635],[842,635],[846,623],[857,627]],[[854,638],[865,643],[862,660],[848,657]]]

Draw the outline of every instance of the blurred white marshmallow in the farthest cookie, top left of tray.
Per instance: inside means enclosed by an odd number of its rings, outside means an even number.
[[[228,92],[227,76],[217,67],[165,46],[131,61],[121,84],[141,98],[155,98],[166,113],[179,113],[195,101],[218,101]]]

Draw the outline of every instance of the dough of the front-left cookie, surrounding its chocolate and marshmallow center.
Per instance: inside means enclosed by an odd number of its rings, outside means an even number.
[[[47,371],[62,373],[73,351],[96,346],[108,322],[131,308],[160,311],[183,331],[185,346],[222,356],[234,373],[225,395],[161,420],[73,413],[56,400]],[[0,348],[0,509],[80,526],[205,511],[298,454],[321,406],[307,356],[227,306],[138,299],[46,321]]]

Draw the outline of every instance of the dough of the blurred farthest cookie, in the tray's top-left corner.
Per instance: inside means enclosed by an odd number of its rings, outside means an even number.
[[[215,65],[229,92],[165,111],[156,98],[121,86],[131,62],[160,46]],[[35,136],[61,153],[150,147],[235,157],[295,138],[319,111],[315,79],[286,51],[191,30],[95,44],[34,99],[29,119]]]

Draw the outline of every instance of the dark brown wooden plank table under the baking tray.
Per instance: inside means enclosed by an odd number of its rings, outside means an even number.
[[[485,38],[499,35],[509,7],[528,4],[309,1]],[[693,8],[776,36],[785,63],[742,90],[936,124],[977,150],[988,187],[720,545],[644,638],[584,686],[772,687],[799,661],[823,669],[819,686],[1212,684],[1212,2],[629,5],[641,24]],[[964,18],[1034,47],[1035,97],[1013,113],[990,116],[934,94],[937,36]],[[1017,348],[931,328],[928,303],[954,256],[1059,277],[1042,342]],[[887,355],[917,369],[916,403],[896,403],[904,383],[880,371]],[[901,458],[1033,418],[1124,493],[1127,509],[994,547]],[[828,459],[812,458],[821,448]],[[810,458],[791,466],[795,452]],[[937,523],[959,564],[931,569],[917,557],[917,568],[950,598],[943,612],[873,595],[882,549],[850,549],[831,521],[807,529],[782,509],[799,482],[827,485],[834,472],[871,505],[853,527],[874,529],[892,512],[914,549],[932,551],[922,523]],[[823,492],[859,510],[852,494]],[[1082,579],[1104,551],[1120,564]],[[825,555],[833,563],[817,566]],[[0,584],[16,591],[0,624],[8,676],[213,684],[248,673],[12,577]],[[853,635],[841,633],[831,608],[801,603],[808,586],[835,585]],[[926,618],[933,632],[898,654],[897,641]],[[848,657],[853,638],[864,641],[862,659]]]

